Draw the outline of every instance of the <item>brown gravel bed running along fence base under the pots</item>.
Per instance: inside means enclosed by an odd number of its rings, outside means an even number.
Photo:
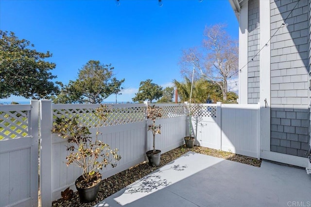
[[[243,156],[236,155],[233,153],[223,152],[219,150],[214,150],[206,147],[194,146],[194,148],[189,149],[184,145],[178,148],[175,148],[167,153],[161,155],[160,166],[150,167],[147,162],[140,163],[139,165],[122,171],[121,173],[115,174],[111,177],[108,177],[101,182],[100,190],[97,196],[97,199],[92,203],[80,203],[78,192],[74,192],[72,198],[68,201],[64,199],[58,199],[52,202],[52,206],[55,207],[92,207],[100,201],[104,200],[106,197],[118,192],[119,190],[125,188],[126,186],[132,184],[138,179],[144,177],[145,175],[152,173],[158,168],[163,167],[167,163],[173,161],[179,156],[192,151],[196,153],[201,153],[204,155],[210,155],[215,157],[220,157],[227,160],[232,160],[235,162],[241,162],[244,164],[260,167],[261,160]]]

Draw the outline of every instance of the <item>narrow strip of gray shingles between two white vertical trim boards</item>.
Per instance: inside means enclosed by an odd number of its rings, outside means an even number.
[[[248,1],[248,61],[259,52],[259,0]],[[248,63],[247,103],[259,102],[259,55]]]

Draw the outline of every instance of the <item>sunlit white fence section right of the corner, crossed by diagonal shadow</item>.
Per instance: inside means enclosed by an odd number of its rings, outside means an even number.
[[[191,121],[201,146],[259,159],[259,118],[259,104],[219,102],[200,104]]]

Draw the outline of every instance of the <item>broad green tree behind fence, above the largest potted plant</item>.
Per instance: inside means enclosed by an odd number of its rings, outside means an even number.
[[[113,93],[121,91],[124,79],[118,81],[113,76],[113,67],[90,60],[78,72],[75,81],[70,80],[63,86],[54,103],[89,103],[100,104]],[[118,92],[118,90],[120,91]]]

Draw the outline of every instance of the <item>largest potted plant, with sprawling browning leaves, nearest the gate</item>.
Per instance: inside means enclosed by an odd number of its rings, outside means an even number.
[[[111,165],[116,167],[116,162],[121,159],[118,149],[111,150],[109,145],[98,139],[99,127],[104,126],[111,109],[101,105],[96,109],[97,124],[95,140],[91,137],[89,127],[79,121],[79,117],[58,118],[53,124],[52,132],[59,137],[67,139],[69,155],[66,157],[67,166],[75,164],[82,168],[83,173],[75,181],[80,201],[89,203],[96,199],[102,175],[99,170]]]

